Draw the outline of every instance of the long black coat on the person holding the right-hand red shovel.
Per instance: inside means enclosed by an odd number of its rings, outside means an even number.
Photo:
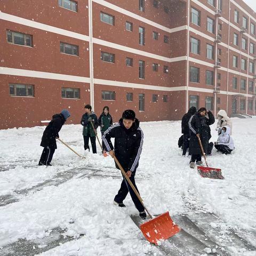
[[[202,151],[198,142],[196,134],[200,135],[204,152],[207,153],[209,140],[211,138],[211,128],[209,125],[214,124],[215,118],[211,111],[208,112],[208,117],[201,116],[200,113],[197,113],[194,116],[191,116],[189,119],[189,130],[190,130],[190,139],[189,139],[189,154],[190,155],[201,155]]]

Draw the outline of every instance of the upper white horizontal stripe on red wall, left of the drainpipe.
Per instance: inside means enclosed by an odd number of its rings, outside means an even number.
[[[77,38],[77,39],[80,39],[80,40],[83,40],[83,41],[89,41],[89,36],[78,34],[78,33],[75,33],[73,31],[70,31],[70,30],[49,26],[49,25],[46,25],[44,23],[39,23],[39,22],[36,22],[36,21],[33,21],[33,20],[20,18],[18,16],[14,16],[14,15],[4,13],[4,12],[0,12],[0,19],[6,20],[6,21],[11,21],[11,22],[18,23],[18,24],[21,24],[21,25],[25,25],[25,26],[28,26],[28,27],[31,27],[31,28],[37,28],[37,29],[49,31],[49,32],[59,34],[59,35],[63,35],[63,36]]]

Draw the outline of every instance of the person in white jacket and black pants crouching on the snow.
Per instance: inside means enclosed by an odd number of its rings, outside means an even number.
[[[234,140],[230,137],[230,127],[224,126],[221,129],[221,133],[217,142],[214,142],[214,147],[217,151],[221,151],[222,154],[229,155],[234,150]]]

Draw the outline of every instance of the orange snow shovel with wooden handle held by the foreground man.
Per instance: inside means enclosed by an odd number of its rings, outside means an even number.
[[[149,218],[151,220],[143,223],[140,225],[140,230],[142,231],[143,235],[146,237],[146,239],[153,244],[157,245],[157,242],[160,239],[168,239],[175,234],[179,233],[180,228],[172,221],[169,212],[165,212],[156,218],[153,219],[152,215],[148,212],[147,208],[143,204],[143,200],[138,193],[137,189],[133,186],[131,180],[128,178],[126,172],[124,171],[123,167],[117,160],[115,154],[113,155],[113,158],[118,165],[119,169],[121,170],[124,178],[129,182],[132,190],[134,191],[135,195],[138,197],[141,204],[144,206],[146,212],[149,215]]]

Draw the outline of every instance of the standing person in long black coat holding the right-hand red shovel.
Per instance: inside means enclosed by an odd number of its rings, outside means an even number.
[[[197,165],[203,165],[202,151],[198,138],[201,139],[205,154],[208,152],[209,140],[211,138],[211,128],[209,125],[214,124],[215,118],[210,110],[200,108],[197,114],[190,117],[189,125],[189,154],[191,154],[190,168]]]

